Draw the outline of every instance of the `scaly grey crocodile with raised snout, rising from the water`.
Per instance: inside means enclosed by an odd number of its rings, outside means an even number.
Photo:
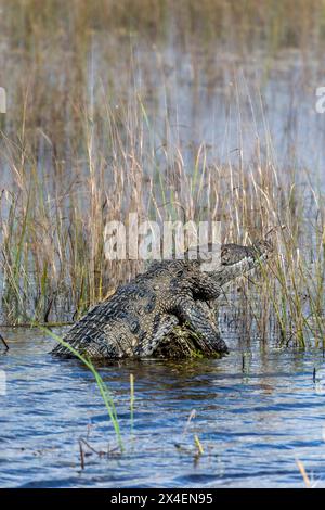
[[[154,262],[91,308],[52,354],[70,357],[72,346],[90,359],[153,357],[165,345],[168,356],[177,328],[194,337],[205,354],[225,354],[229,349],[218,330],[216,299],[229,283],[260,266],[272,252],[268,239],[250,246],[224,244],[219,265],[209,271],[205,270],[206,258],[192,259],[190,251],[183,259]]]

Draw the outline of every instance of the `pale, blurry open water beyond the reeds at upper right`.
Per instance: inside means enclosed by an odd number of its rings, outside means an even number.
[[[323,189],[325,114],[317,111],[323,68],[316,54],[310,51],[306,60],[301,51],[284,49],[274,58],[255,48],[247,58],[240,58],[217,47],[212,56],[205,54],[199,42],[191,50],[181,48],[177,29],[173,36],[171,30],[170,38],[159,52],[140,42],[134,50],[134,87],[151,125],[144,142],[154,136],[162,168],[161,143],[167,143],[171,161],[172,148],[181,148],[188,173],[200,143],[205,143],[212,164],[237,165],[242,157],[249,167],[257,164],[258,138],[262,162],[272,158],[276,168],[285,171],[296,168],[300,183],[308,182],[308,169],[313,186]],[[95,105],[103,104],[100,85],[108,79],[101,48],[104,43],[100,38],[89,56],[94,73],[88,89]],[[120,72],[109,79],[120,90]],[[132,93],[128,89],[128,94]],[[118,100],[116,103],[119,107]]]

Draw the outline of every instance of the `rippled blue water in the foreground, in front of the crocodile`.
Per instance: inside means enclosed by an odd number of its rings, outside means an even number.
[[[99,456],[84,446],[82,470],[79,438],[98,451],[116,447],[93,377],[75,360],[52,359],[53,342],[43,334],[5,330],[5,337],[0,486],[302,487],[297,460],[312,483],[325,485],[320,350],[263,347],[258,340],[247,344],[227,332],[232,350],[221,360],[101,368],[126,451]],[[130,373],[135,379],[133,439]],[[196,455],[195,434],[202,456]]]

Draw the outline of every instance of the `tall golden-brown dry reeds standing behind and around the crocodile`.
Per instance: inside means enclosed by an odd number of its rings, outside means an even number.
[[[136,212],[142,219],[160,222],[221,220],[226,242],[246,243],[272,226],[286,225],[278,233],[274,260],[259,271],[258,299],[247,292],[249,283],[243,299],[262,337],[274,328],[284,344],[324,342],[322,193],[312,183],[301,186],[295,168],[274,163],[268,128],[262,136],[256,132],[249,167],[242,158],[243,146],[237,165],[216,163],[200,140],[195,140],[190,167],[169,117],[164,78],[159,93],[166,97],[166,110],[158,128],[153,105],[146,107],[146,97],[157,84],[151,84],[152,75],[142,69],[143,90],[134,86],[135,58],[132,67],[119,48],[129,48],[122,41],[130,30],[156,43],[164,41],[170,2],[0,4],[1,34],[9,41],[0,76],[10,92],[0,126],[5,178],[0,197],[2,305],[8,320],[64,320],[72,318],[72,310],[76,318],[134,276],[138,262],[105,260],[103,231],[107,220],[127,224],[129,213]],[[218,81],[209,58],[214,43],[231,44],[240,53],[258,41],[269,55],[282,46],[294,46],[303,54],[309,39],[317,48],[324,37],[321,4],[301,2],[297,9],[297,2],[275,7],[266,1],[261,9],[260,2],[250,0],[244,10],[236,2],[188,0],[188,9],[173,5],[183,34],[179,43],[191,53],[196,37],[207,50],[206,60],[196,61],[193,54],[193,87],[202,73]],[[102,80],[95,90],[93,74]]]

